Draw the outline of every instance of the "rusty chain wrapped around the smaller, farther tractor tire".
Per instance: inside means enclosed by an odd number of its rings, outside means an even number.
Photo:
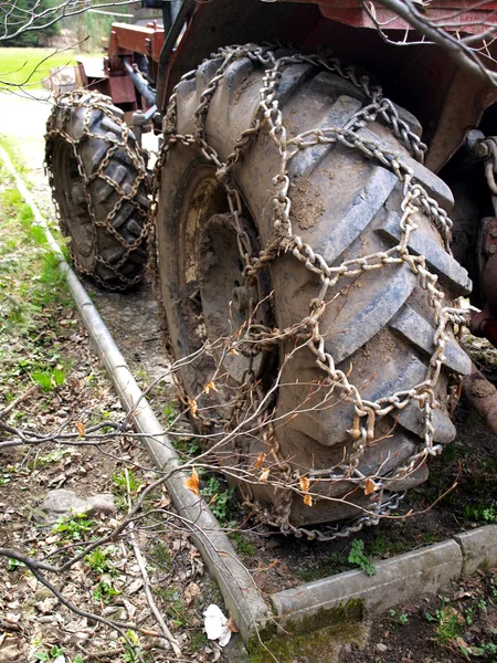
[[[63,108],[65,116],[62,116],[62,123],[57,123],[57,118],[61,117],[61,108]],[[60,128],[57,126],[57,124],[62,124],[62,126],[65,127],[66,123],[71,120],[71,115],[74,109],[84,110],[83,123],[81,128],[78,127],[77,130],[77,138],[72,136],[64,128]],[[116,134],[114,134],[113,131],[107,131],[104,135],[92,131],[91,122],[94,117],[95,112],[104,113],[115,125],[117,125],[120,129],[120,136],[116,136]],[[52,200],[55,207],[57,219],[61,224],[61,229],[63,230],[64,234],[67,234],[66,223],[63,219],[61,206],[56,198],[55,177],[53,172],[54,149],[56,147],[57,140],[60,139],[62,139],[72,147],[74,158],[77,164],[77,171],[81,178],[81,182],[84,187],[86,206],[85,213],[87,213],[92,224],[95,228],[104,228],[106,232],[108,232],[124,249],[124,253],[118,262],[110,264],[102,255],[96,254],[92,267],[86,269],[77,260],[77,256],[72,250],[70,243],[71,257],[76,269],[81,273],[91,275],[95,281],[97,281],[101,285],[105,286],[107,290],[125,291],[138,283],[141,280],[142,274],[140,273],[129,278],[125,274],[123,274],[121,267],[126,264],[130,254],[147,242],[147,236],[150,227],[148,207],[145,203],[144,197],[141,197],[141,200],[137,199],[137,194],[140,190],[140,187],[142,187],[142,185],[147,181],[147,172],[145,169],[142,157],[135,145],[133,134],[127,127],[127,125],[115,115],[112,107],[112,99],[109,97],[106,97],[99,93],[86,91],[73,91],[71,93],[63,94],[57,97],[52,114],[46,123],[46,149],[44,167],[45,172],[49,173],[49,182],[52,189]],[[94,172],[89,173],[85,170],[82,149],[84,145],[92,139],[107,144],[108,149],[106,150],[101,164],[98,164],[98,168]],[[133,185],[126,183],[126,190],[120,186],[119,182],[112,179],[105,172],[105,169],[112,161],[113,157],[117,152],[123,151],[125,152],[126,158],[129,160],[129,162],[134,166],[134,182]],[[118,194],[113,209],[106,214],[105,218],[101,218],[101,215],[97,214],[95,210],[94,198],[92,197],[91,185],[96,179],[105,181]],[[114,220],[125,204],[133,206],[134,210],[140,218],[141,231],[140,234],[133,242],[127,241],[114,227]],[[116,276],[116,280],[118,282],[117,284],[109,284],[107,281],[104,282],[98,276],[98,274],[95,273],[98,263],[105,269],[109,270]]]

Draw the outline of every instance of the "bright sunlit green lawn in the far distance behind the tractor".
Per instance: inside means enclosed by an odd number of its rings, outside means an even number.
[[[55,53],[54,49],[1,49],[0,87],[24,85],[41,87],[56,66],[74,65],[73,51]]]

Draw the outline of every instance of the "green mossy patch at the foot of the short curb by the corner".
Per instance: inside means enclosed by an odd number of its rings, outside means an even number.
[[[285,633],[274,628],[254,636],[248,646],[252,663],[274,663],[306,657],[319,663],[336,661],[337,650],[345,643],[360,643],[362,629],[361,600],[351,600],[329,610],[321,609],[310,617],[285,622]]]

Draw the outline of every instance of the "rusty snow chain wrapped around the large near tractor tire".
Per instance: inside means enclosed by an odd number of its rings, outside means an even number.
[[[234,219],[235,227],[240,229],[239,246],[242,259],[244,261],[245,286],[250,287],[251,278],[264,269],[271,261],[277,260],[281,253],[292,253],[294,257],[306,266],[307,270],[316,274],[319,278],[321,287],[318,297],[309,302],[309,315],[298,325],[294,325],[292,329],[279,330],[263,330],[257,326],[256,334],[251,335],[251,330],[246,332],[250,336],[251,348],[257,347],[258,351],[263,348],[267,349],[271,345],[279,343],[282,337],[288,338],[295,336],[303,338],[305,334],[305,345],[316,357],[317,366],[322,370],[324,378],[330,389],[350,402],[353,406],[353,424],[348,431],[353,443],[347,456],[338,465],[328,470],[313,470],[300,472],[292,469],[290,465],[282,457],[277,442],[273,436],[271,414],[265,413],[264,420],[260,419],[262,434],[268,444],[273,444],[271,455],[277,459],[277,465],[272,467],[272,476],[278,477],[279,481],[275,487],[275,505],[268,512],[260,504],[254,504],[250,499],[250,486],[246,493],[245,504],[250,506],[261,522],[279,527],[285,534],[293,533],[296,536],[307,536],[309,539],[331,540],[337,537],[348,536],[352,532],[358,532],[364,525],[378,524],[380,518],[395,511],[401,495],[392,494],[390,498],[382,502],[384,488],[392,481],[403,478],[420,467],[427,456],[436,455],[441,452],[442,446],[435,444],[433,440],[434,428],[432,423],[433,410],[436,409],[438,402],[435,398],[434,388],[437,383],[442,362],[444,360],[444,348],[448,340],[447,329],[452,327],[459,329],[462,325],[467,323],[466,314],[458,307],[443,306],[443,293],[436,287],[437,276],[432,274],[426,266],[426,261],[423,255],[414,255],[409,252],[408,244],[411,234],[416,230],[416,224],[413,220],[413,214],[420,210],[424,211],[435,223],[441,232],[445,249],[450,252],[451,228],[452,221],[446,212],[441,209],[435,200],[429,197],[425,189],[415,181],[412,169],[402,162],[402,159],[392,151],[381,148],[372,140],[364,140],[359,137],[358,130],[367,126],[368,123],[379,119],[398,137],[406,149],[420,161],[423,160],[426,146],[421,143],[420,138],[413,134],[406,123],[404,123],[388,98],[383,97],[380,87],[372,85],[367,75],[359,74],[353,67],[343,67],[336,59],[328,59],[321,55],[302,55],[293,54],[276,59],[269,48],[262,48],[254,44],[244,46],[229,46],[218,51],[211,56],[212,60],[222,59],[214,77],[209,83],[208,87],[201,95],[201,102],[195,112],[195,133],[192,135],[179,135],[176,133],[176,90],[171,95],[168,110],[163,120],[165,140],[158,161],[156,164],[152,182],[152,203],[151,217],[154,224],[157,220],[158,210],[158,193],[160,189],[161,171],[167,159],[167,155],[172,145],[180,143],[183,145],[200,146],[203,156],[216,167],[216,179],[224,186],[228,194],[228,202],[231,214]],[[236,60],[248,57],[254,62],[260,62],[265,67],[263,78],[263,87],[261,88],[261,101],[252,119],[251,127],[243,131],[242,136],[233,146],[232,154],[226,161],[222,161],[219,154],[208,144],[205,135],[205,118],[208,115],[210,102],[218,88],[220,81],[223,78],[228,67]],[[321,129],[306,130],[295,138],[287,137],[286,128],[283,122],[282,110],[279,109],[275,92],[278,86],[278,81],[282,76],[282,71],[293,64],[311,64],[317,69],[332,72],[342,78],[351,82],[361,90],[370,99],[370,103],[358,110],[345,127],[328,127]],[[189,72],[182,77],[182,81],[194,77],[195,71]],[[273,228],[274,239],[271,245],[266,246],[258,257],[251,259],[250,251],[246,251],[243,243],[243,227],[241,223],[242,203],[239,191],[231,178],[231,171],[236,161],[241,158],[244,150],[251,145],[252,139],[265,128],[274,143],[276,144],[281,155],[279,172],[273,178],[273,187],[275,188]],[[359,150],[368,159],[376,159],[382,166],[389,168],[399,180],[402,182],[403,200],[401,203],[401,220],[400,229],[401,236],[399,243],[388,251],[373,253],[364,257],[346,260],[338,266],[330,266],[325,259],[316,253],[309,244],[306,244],[302,238],[294,232],[289,217],[292,200],[289,198],[289,178],[287,175],[288,164],[292,158],[302,149],[314,145],[341,144],[350,149]],[[152,238],[154,241],[154,238]],[[151,266],[158,280],[158,255],[157,249],[152,245]],[[381,270],[389,264],[401,265],[406,263],[412,272],[417,276],[420,285],[427,292],[429,303],[433,308],[433,318],[435,334],[433,338],[434,352],[431,357],[427,372],[423,382],[413,386],[411,389],[399,391],[391,396],[381,397],[376,401],[369,401],[361,397],[360,391],[348,380],[345,372],[337,369],[334,358],[325,349],[325,338],[319,328],[319,322],[325,311],[325,296],[328,288],[334,286],[342,277],[353,277],[366,271]],[[157,287],[157,293],[160,288]],[[276,339],[277,336],[277,339]],[[239,346],[237,346],[239,347]],[[257,386],[253,385],[256,393]],[[243,390],[245,393],[246,389]],[[243,400],[243,396],[241,397]],[[403,410],[410,402],[416,401],[423,411],[424,417],[424,435],[422,443],[417,446],[415,453],[408,461],[388,476],[387,480],[373,480],[371,476],[363,475],[359,469],[359,461],[363,454],[364,448],[370,440],[374,438],[374,424],[378,418],[384,417],[392,411]],[[235,408],[240,408],[240,402]],[[200,413],[197,414],[202,419]],[[233,417],[232,417],[233,419]],[[209,424],[209,420],[205,420]],[[269,455],[269,454],[267,454]],[[261,481],[262,469],[258,463],[252,469],[250,478],[257,481],[257,475]],[[240,477],[243,481],[243,476]],[[295,494],[302,497],[310,497],[308,495],[309,483],[319,481],[348,481],[356,483],[364,490],[367,495],[370,495],[370,503],[363,515],[350,525],[327,526],[319,529],[306,529],[304,527],[295,527],[289,522],[292,502]],[[250,482],[248,482],[250,483]],[[306,502],[309,504],[309,502]],[[310,499],[311,504],[311,499]],[[360,507],[358,507],[360,508]]]

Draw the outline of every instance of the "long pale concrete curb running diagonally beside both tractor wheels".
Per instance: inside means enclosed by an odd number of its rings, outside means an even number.
[[[33,197],[17,173],[9,155],[1,147],[0,156],[15,179],[19,192],[31,207],[36,223],[44,230],[50,248],[60,256],[60,269],[67,280],[67,285],[83,325],[86,327],[98,356],[103,359],[123,408],[129,413],[136,430],[147,435],[146,444],[156,465],[165,472],[175,470],[180,461],[171,442],[165,434],[162,425],[138,387],[125,358],[85,288],[65,261],[61,248],[50,232]],[[216,580],[226,608],[234,619],[243,640],[248,642],[250,638],[264,624],[268,617],[267,607],[251,575],[237,557],[230,539],[221,529],[205,502],[184,487],[186,478],[184,473],[175,472],[166,481],[166,485],[178,513],[188,520],[184,525],[190,528],[209,571]]]

